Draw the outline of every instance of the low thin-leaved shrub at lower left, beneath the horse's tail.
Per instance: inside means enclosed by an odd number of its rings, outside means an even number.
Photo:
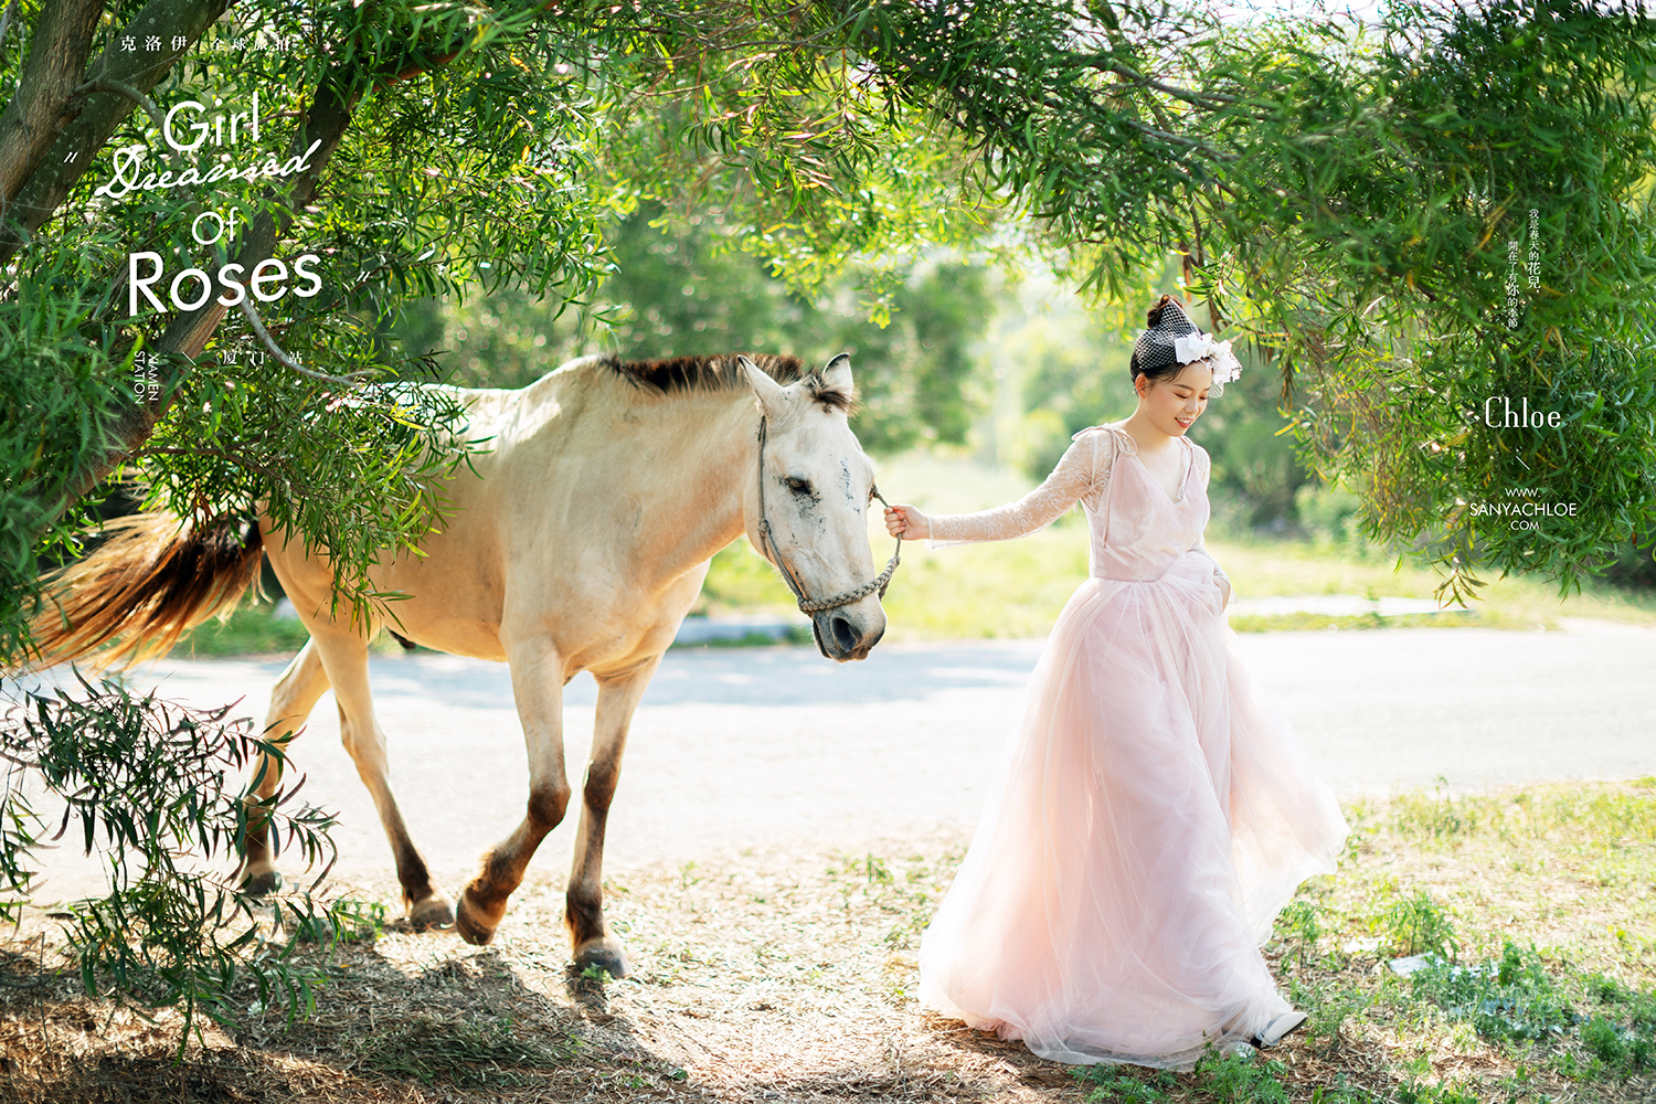
[[[28,796],[38,781],[65,801],[53,818],[58,836],[98,851],[109,876],[106,895],[61,914],[89,995],[181,1008],[181,1049],[197,1013],[233,1021],[243,985],[260,1005],[285,1003],[290,1016],[310,1010],[325,963],[296,950],[335,932],[338,919],[308,892],[257,899],[224,877],[247,854],[252,799],[230,780],[260,753],[282,758],[280,748],[257,738],[250,718],[230,718],[230,705],[195,710],[75,674],[76,694],[8,687],[0,697],[12,702],[0,718],[0,758],[10,765],[0,790],[0,919],[22,909],[33,877],[26,856],[50,831]],[[285,808],[295,790],[262,803],[272,847],[331,864],[333,816]],[[195,857],[220,867],[195,869]]]

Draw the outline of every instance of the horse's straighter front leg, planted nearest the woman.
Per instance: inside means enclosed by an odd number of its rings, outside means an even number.
[[[626,750],[633,710],[657,665],[661,655],[652,655],[624,675],[598,682],[593,758],[586,763],[586,785],[581,786],[581,826],[575,836],[575,867],[563,912],[575,943],[575,965],[608,970],[613,978],[626,977],[628,960],[621,940],[604,924],[604,823],[621,776],[621,751]]]

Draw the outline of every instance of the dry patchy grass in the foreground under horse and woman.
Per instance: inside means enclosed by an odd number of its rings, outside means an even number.
[[[1307,1028],[1192,1073],[1065,1068],[919,1008],[916,950],[965,836],[747,849],[606,879],[634,972],[568,965],[561,877],[490,947],[381,924],[315,1018],[209,1028],[73,995],[48,943],[0,955],[0,1099],[891,1104],[1633,1104],[1656,1099],[1656,778],[1346,806],[1351,844],[1265,947]],[[619,824],[616,826],[621,828]],[[1404,978],[1388,962],[1426,955]],[[123,1096],[124,1094],[124,1096]]]

